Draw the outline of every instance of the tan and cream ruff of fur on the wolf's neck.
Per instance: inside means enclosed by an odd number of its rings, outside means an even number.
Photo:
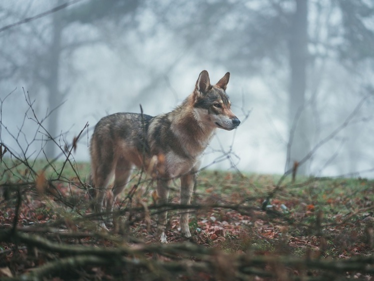
[[[193,106],[193,94],[169,113],[171,129],[191,155],[198,156],[208,145],[215,126],[205,122]]]

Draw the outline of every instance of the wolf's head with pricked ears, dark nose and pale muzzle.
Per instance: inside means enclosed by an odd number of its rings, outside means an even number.
[[[230,73],[227,72],[215,85],[211,85],[208,71],[201,71],[193,93],[195,117],[199,122],[226,130],[240,124],[231,111],[231,102],[225,92],[229,78]]]

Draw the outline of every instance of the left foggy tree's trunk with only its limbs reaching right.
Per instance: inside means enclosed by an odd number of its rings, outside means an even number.
[[[62,0],[58,0],[57,4],[62,4]],[[69,10],[61,10],[52,14],[52,40],[50,47],[46,50],[49,60],[46,65],[50,67],[48,76],[44,79],[44,84],[48,92],[48,108],[54,110],[48,118],[48,132],[54,138],[58,137],[58,121],[59,121],[59,105],[69,93],[69,88],[61,93],[59,88],[60,67],[63,67],[61,52],[64,49],[82,47],[85,44],[92,44],[92,40],[75,41],[71,45],[63,45],[63,30],[73,22],[94,23],[97,20],[106,18],[106,20],[116,20],[127,13],[134,12],[139,4],[139,0],[121,1],[121,0],[93,0],[81,5],[73,6]],[[101,41],[101,40],[100,40]],[[44,71],[45,69],[36,69],[36,71]],[[47,158],[56,156],[57,145],[52,141],[48,141],[45,147]]]

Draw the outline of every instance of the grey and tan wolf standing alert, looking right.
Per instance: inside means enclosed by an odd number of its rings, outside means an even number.
[[[114,174],[107,210],[129,181],[136,166],[157,181],[157,203],[167,203],[168,184],[180,178],[180,202],[191,201],[200,156],[216,128],[232,130],[240,120],[231,111],[226,94],[230,73],[215,85],[201,71],[193,92],[174,110],[157,116],[143,113],[115,113],[103,117],[95,126],[91,143],[92,185],[96,190],[94,210],[101,212],[110,179]],[[157,232],[166,242],[167,212],[158,216]],[[190,238],[188,211],[180,216],[181,235]]]

